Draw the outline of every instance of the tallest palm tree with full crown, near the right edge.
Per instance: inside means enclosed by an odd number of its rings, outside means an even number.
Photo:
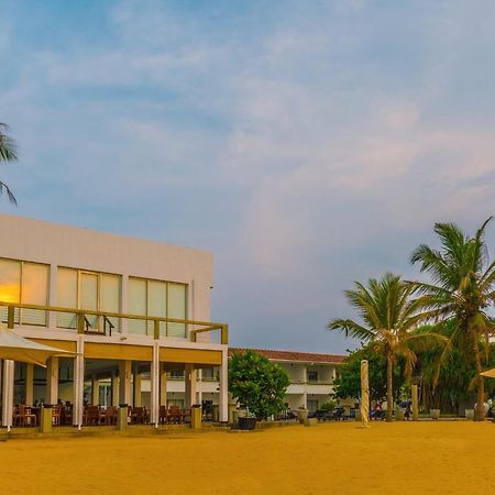
[[[493,324],[486,310],[495,300],[495,262],[490,262],[484,241],[488,218],[473,238],[454,223],[436,223],[441,249],[421,244],[411,254],[411,263],[419,263],[421,272],[428,272],[432,283],[417,283],[429,317],[453,324],[450,337],[465,361],[474,359],[477,403],[475,420],[484,419],[484,358],[490,350],[488,337]]]

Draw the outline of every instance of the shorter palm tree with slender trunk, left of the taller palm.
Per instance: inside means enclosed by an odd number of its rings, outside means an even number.
[[[415,333],[420,321],[421,301],[413,299],[414,285],[398,275],[386,273],[382,279],[371,278],[367,286],[355,282],[353,290],[345,290],[349,302],[358,310],[361,322],[351,319],[336,319],[328,323],[329,330],[339,330],[345,337],[371,342],[375,352],[382,353],[387,362],[387,421],[393,413],[393,370],[398,359],[405,363],[409,378],[416,364],[416,352],[429,349],[444,341],[436,333]]]

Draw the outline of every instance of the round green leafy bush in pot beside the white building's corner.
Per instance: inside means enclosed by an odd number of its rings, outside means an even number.
[[[235,353],[229,363],[229,392],[258,419],[277,414],[289,385],[278,364],[253,351]]]

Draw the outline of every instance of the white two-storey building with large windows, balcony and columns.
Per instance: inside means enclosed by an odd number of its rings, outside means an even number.
[[[210,322],[210,252],[8,215],[0,231],[1,320],[70,353],[46,370],[6,361],[14,380],[3,373],[4,405],[70,402],[80,426],[85,404],[144,400],[156,421],[173,400],[174,376],[184,376],[182,400],[190,407],[197,371],[215,367],[219,419],[227,421],[228,328]]]

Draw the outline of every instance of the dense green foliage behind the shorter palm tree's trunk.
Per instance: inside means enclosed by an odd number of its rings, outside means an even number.
[[[373,344],[366,344],[358,351],[350,352],[344,364],[339,369],[340,376],[336,380],[336,397],[358,398],[361,395],[361,360],[369,361],[369,381],[371,400],[384,400],[387,391],[387,362],[383,354],[374,351]],[[404,365],[394,366],[393,396],[398,397],[399,389],[405,383]]]

